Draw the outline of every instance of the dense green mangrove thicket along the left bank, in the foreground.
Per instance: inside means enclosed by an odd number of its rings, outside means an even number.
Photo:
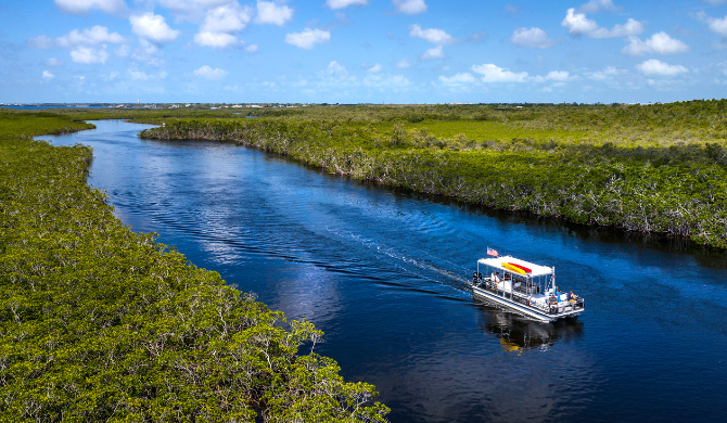
[[[3,420],[384,421],[372,385],[298,354],[320,331],[124,227],[89,148],[29,139],[90,127],[0,113]]]

